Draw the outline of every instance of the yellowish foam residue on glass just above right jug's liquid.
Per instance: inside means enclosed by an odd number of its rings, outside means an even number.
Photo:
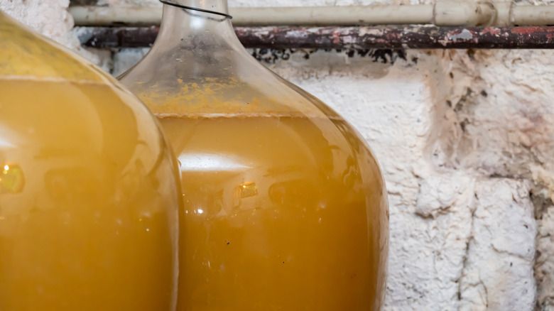
[[[124,81],[124,80],[123,80]],[[292,89],[274,89],[235,78],[180,79],[128,84],[157,116],[312,116],[325,118],[317,99],[298,97]],[[320,107],[319,107],[320,106]],[[330,109],[328,109],[330,110]]]

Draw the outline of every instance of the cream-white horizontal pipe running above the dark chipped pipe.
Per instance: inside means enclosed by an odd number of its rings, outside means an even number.
[[[77,26],[159,25],[159,7],[70,7]],[[231,8],[235,26],[352,26],[435,24],[437,26],[554,25],[554,6],[510,2],[438,0],[435,5],[305,6]]]

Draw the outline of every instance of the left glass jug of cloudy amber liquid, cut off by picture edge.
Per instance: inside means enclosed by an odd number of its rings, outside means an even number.
[[[0,42],[0,310],[175,310],[180,186],[156,119],[1,11]]]

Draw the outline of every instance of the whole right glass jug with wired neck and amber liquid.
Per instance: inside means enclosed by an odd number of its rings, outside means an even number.
[[[180,160],[178,310],[378,310],[389,231],[374,156],[252,58],[226,13],[167,2],[153,48],[120,77]]]

